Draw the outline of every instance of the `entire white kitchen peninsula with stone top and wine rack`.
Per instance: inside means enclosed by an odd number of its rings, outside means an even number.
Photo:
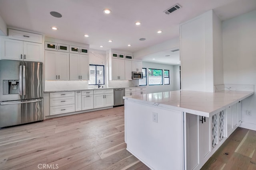
[[[172,91],[125,99],[127,150],[152,170],[200,169],[242,122],[247,91]]]

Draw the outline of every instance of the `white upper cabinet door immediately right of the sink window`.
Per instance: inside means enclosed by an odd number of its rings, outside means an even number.
[[[124,60],[112,59],[112,80],[125,80]]]

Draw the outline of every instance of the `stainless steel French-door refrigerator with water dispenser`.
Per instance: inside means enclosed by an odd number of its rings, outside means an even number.
[[[0,60],[0,127],[43,120],[42,66]]]

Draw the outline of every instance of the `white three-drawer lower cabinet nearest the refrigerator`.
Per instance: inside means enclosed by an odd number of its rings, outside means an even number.
[[[50,93],[50,115],[75,111],[75,92]]]

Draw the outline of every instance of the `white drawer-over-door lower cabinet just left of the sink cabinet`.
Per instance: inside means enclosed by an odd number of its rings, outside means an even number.
[[[82,110],[94,108],[93,90],[82,91]]]

